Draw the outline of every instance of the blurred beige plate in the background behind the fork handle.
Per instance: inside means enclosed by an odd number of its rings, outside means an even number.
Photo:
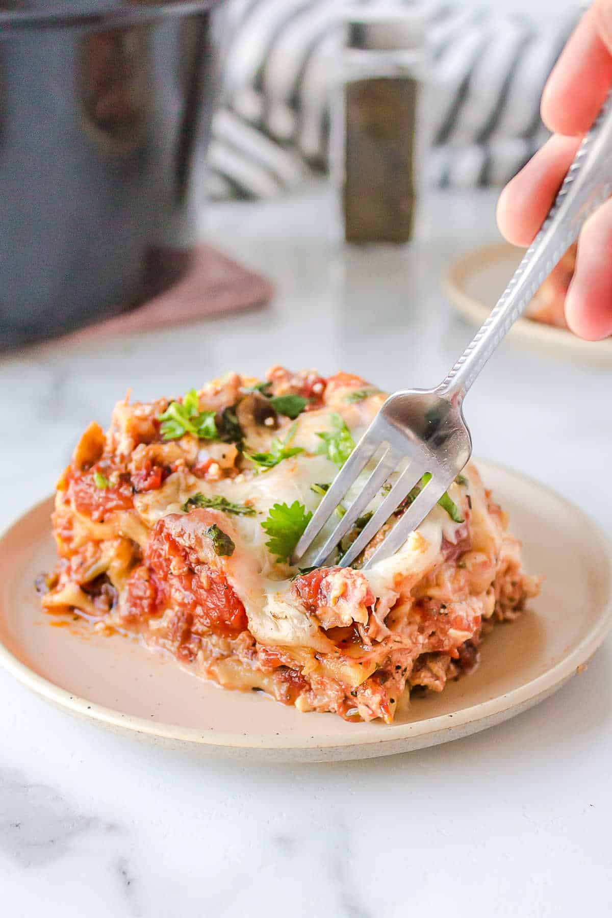
[[[482,325],[504,292],[524,250],[502,242],[485,245],[451,265],[444,288],[455,308],[473,325]],[[583,341],[570,331],[531,319],[518,319],[509,332],[516,340],[554,351],[560,356],[612,364],[612,338]]]

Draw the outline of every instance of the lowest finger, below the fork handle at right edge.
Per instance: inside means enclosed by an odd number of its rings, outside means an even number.
[[[612,335],[612,200],[588,218],[580,234],[565,319],[587,341]]]

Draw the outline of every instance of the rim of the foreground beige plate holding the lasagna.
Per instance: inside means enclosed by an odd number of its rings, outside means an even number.
[[[286,753],[287,755],[294,754],[298,756],[299,754],[307,755],[308,753],[330,754],[334,750],[338,750],[343,757],[357,757],[356,754],[362,757],[380,756],[387,753],[401,752],[403,745],[406,745],[407,751],[408,748],[411,748],[411,743],[423,738],[426,738],[428,742],[421,745],[434,745],[444,742],[445,738],[455,738],[448,735],[450,733],[454,733],[456,738],[459,738],[465,735],[465,732],[462,732],[462,728],[468,725],[473,727],[470,733],[476,733],[494,725],[496,722],[510,719],[510,717],[527,710],[557,689],[560,689],[564,682],[579,671],[579,667],[588,662],[597,648],[604,642],[607,634],[612,631],[612,541],[599,524],[584,512],[584,509],[554,488],[545,485],[538,478],[491,460],[476,459],[474,461],[476,465],[481,465],[484,469],[488,466],[510,476],[519,476],[530,485],[539,487],[556,500],[561,501],[573,513],[578,513],[594,532],[607,562],[606,600],[602,605],[601,613],[595,625],[584,635],[569,655],[564,656],[540,676],[517,686],[516,689],[511,689],[502,695],[495,695],[486,701],[469,705],[461,711],[440,714],[437,717],[425,718],[422,721],[386,725],[384,726],[384,733],[381,733],[380,736],[373,734],[361,736],[356,730],[354,734],[347,734],[341,737],[334,736],[333,733],[317,737],[305,735],[292,739],[287,744],[280,734],[278,736],[265,737],[263,740],[258,740],[256,736],[250,736],[248,733],[221,733],[214,731],[212,735],[209,735],[195,727],[180,727],[176,724],[165,722],[151,723],[145,718],[96,704],[95,701],[75,695],[69,689],[62,689],[61,686],[55,685],[50,679],[39,675],[9,650],[2,636],[0,636],[0,666],[16,677],[19,683],[34,691],[43,699],[50,701],[63,710],[97,722],[100,725],[111,729],[125,730],[135,736],[145,735],[153,740],[189,744],[203,747],[210,752],[225,752],[227,755],[231,755],[232,752],[252,752],[255,754],[269,752],[271,754]],[[50,508],[53,500],[54,495],[42,498],[17,517],[16,520],[10,522],[5,530],[0,532],[0,548],[10,539],[11,533],[17,526],[23,525],[28,518],[36,516],[47,506]],[[270,703],[273,704],[273,700]],[[359,724],[355,726],[359,728]],[[212,729],[211,727],[210,730],[212,731]],[[412,748],[415,748],[415,746],[412,746]],[[280,757],[278,760],[280,760]]]

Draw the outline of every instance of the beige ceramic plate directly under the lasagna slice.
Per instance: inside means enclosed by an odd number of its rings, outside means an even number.
[[[612,627],[611,549],[584,513],[547,487],[479,464],[524,543],[529,571],[545,577],[529,613],[498,625],[472,676],[415,699],[392,726],[301,714],[259,693],[224,691],[120,637],[51,627],[34,577],[54,560],[51,500],[0,542],[0,663],[73,714],[158,743],[275,761],[386,756],[475,733],[546,698],[573,676]]]

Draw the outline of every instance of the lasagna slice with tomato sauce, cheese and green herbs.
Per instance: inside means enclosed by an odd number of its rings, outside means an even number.
[[[44,609],[138,635],[227,689],[392,722],[402,694],[473,669],[484,633],[537,585],[473,465],[393,557],[361,569],[414,494],[352,567],[336,562],[367,517],[327,566],[291,565],[383,401],[358,376],[274,367],[265,381],[230,373],[175,400],[119,402],[58,483]]]

